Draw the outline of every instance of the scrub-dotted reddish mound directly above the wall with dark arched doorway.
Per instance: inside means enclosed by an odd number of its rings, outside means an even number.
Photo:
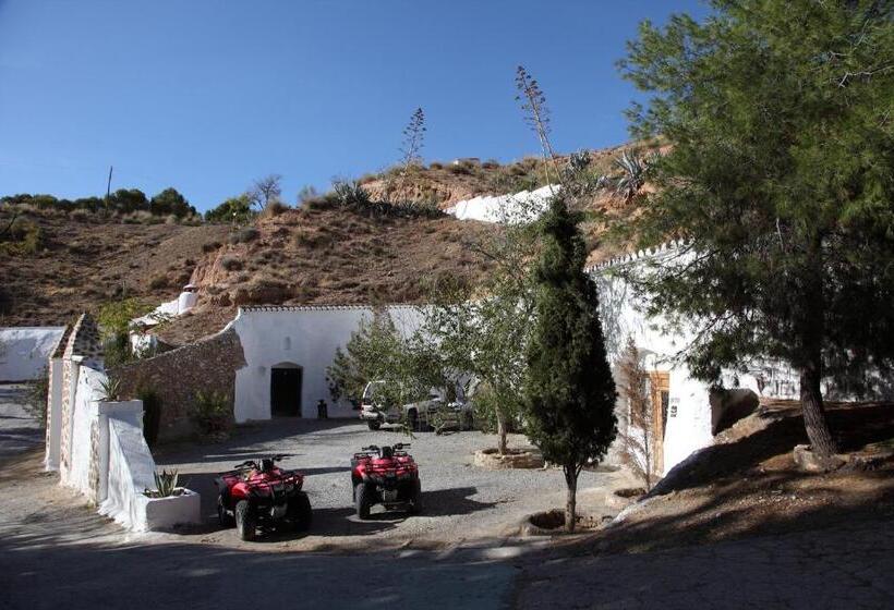
[[[449,216],[373,218],[315,204],[255,228],[256,236],[201,260],[192,277],[198,305],[159,330],[164,341],[219,330],[237,306],[421,303],[438,279],[474,285],[487,270],[469,242],[491,227]]]

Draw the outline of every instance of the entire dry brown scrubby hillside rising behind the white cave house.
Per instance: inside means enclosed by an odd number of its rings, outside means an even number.
[[[611,174],[625,148],[590,151],[588,173]],[[546,182],[544,164],[539,158],[509,164],[463,159],[358,182],[373,200],[447,208],[476,195],[534,190]],[[604,243],[606,221],[635,215],[636,203],[601,191],[584,207],[594,212],[583,224],[590,263],[624,249]],[[485,223],[370,216],[334,205],[329,196],[262,215],[246,228],[142,223],[29,205],[0,206],[0,227],[13,211],[39,235],[27,253],[0,248],[2,326],[64,324],[122,295],[138,297],[149,310],[192,281],[200,286],[194,314],[159,331],[180,344],[221,328],[240,305],[416,303],[438,276],[474,283],[487,267],[467,244],[488,231]]]

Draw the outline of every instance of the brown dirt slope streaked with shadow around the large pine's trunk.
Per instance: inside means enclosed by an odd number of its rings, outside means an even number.
[[[861,457],[856,467],[800,472],[792,457],[794,446],[807,442],[800,410],[775,402],[668,475],[587,547],[597,553],[644,552],[894,514],[892,405],[832,404],[829,417],[842,450]]]

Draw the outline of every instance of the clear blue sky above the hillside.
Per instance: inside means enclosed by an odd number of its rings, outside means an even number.
[[[524,64],[567,151],[627,139],[615,61],[640,20],[697,0],[0,0],[0,195],[174,186],[200,209],[283,175],[394,163],[425,110],[426,160],[536,151]]]

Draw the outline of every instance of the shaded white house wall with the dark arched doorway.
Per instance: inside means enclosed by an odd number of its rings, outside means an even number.
[[[395,326],[411,333],[421,319],[413,307],[392,306]],[[334,404],[326,382],[326,367],[336,350],[345,347],[361,319],[371,319],[370,307],[247,307],[240,309],[228,328],[235,330],[245,354],[245,367],[235,374],[237,422],[269,419],[270,369],[290,364],[302,367],[301,414],[316,417],[319,399],[329,405],[329,417],[354,417],[347,400]]]

